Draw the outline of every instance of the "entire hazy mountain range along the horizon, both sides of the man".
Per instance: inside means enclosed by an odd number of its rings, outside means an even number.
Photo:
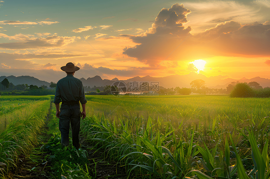
[[[28,84],[28,85],[37,85],[37,86],[42,86],[46,85],[49,86],[50,83],[46,81],[40,81],[39,79],[35,77],[30,77],[30,76],[1,76],[0,81],[2,81],[4,78],[7,78],[9,82],[12,82],[14,85],[17,84]],[[196,79],[202,79],[206,82],[206,86],[209,88],[226,88],[228,84],[231,82],[258,82],[262,87],[270,87],[270,79],[268,78],[261,78],[261,77],[254,77],[251,79],[247,79],[245,77],[241,79],[233,79],[233,78],[228,78],[227,76],[212,76],[212,77],[206,77],[203,74],[197,74],[195,72],[190,72],[189,74],[186,75],[170,75],[166,77],[150,77],[145,76],[145,77],[133,77],[127,80],[121,80],[124,82],[127,87],[129,87],[130,82],[159,82],[159,86],[161,87],[166,87],[166,88],[171,88],[171,87],[188,87],[190,88],[190,83],[193,80]],[[83,82],[84,86],[90,86],[90,87],[100,87],[100,86],[106,86],[106,85],[112,85],[114,82],[119,81],[117,78],[114,78],[112,80],[109,79],[102,79],[100,76],[95,76],[95,77],[89,77],[87,79],[85,78],[80,78],[80,80]]]

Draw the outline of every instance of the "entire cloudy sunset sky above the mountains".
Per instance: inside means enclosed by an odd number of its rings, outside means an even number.
[[[270,78],[270,0],[0,0],[0,76]]]

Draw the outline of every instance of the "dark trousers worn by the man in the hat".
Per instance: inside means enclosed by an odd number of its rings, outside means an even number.
[[[80,132],[81,112],[80,105],[61,105],[59,130],[61,132],[62,146],[69,145],[69,124],[72,131],[72,144],[77,149],[80,147],[79,132]]]

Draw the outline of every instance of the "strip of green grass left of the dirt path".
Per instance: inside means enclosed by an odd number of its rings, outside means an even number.
[[[20,102],[20,101],[17,101]],[[27,156],[36,144],[36,136],[48,112],[50,101],[31,101],[30,104],[0,116],[0,162],[7,165],[0,176],[16,170],[19,154]]]

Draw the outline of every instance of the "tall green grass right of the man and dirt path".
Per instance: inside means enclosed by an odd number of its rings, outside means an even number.
[[[84,134],[128,174],[142,178],[241,178],[245,169],[256,177],[251,137],[262,147],[269,140],[266,98],[91,96],[88,101]],[[265,157],[268,147],[264,151]]]

